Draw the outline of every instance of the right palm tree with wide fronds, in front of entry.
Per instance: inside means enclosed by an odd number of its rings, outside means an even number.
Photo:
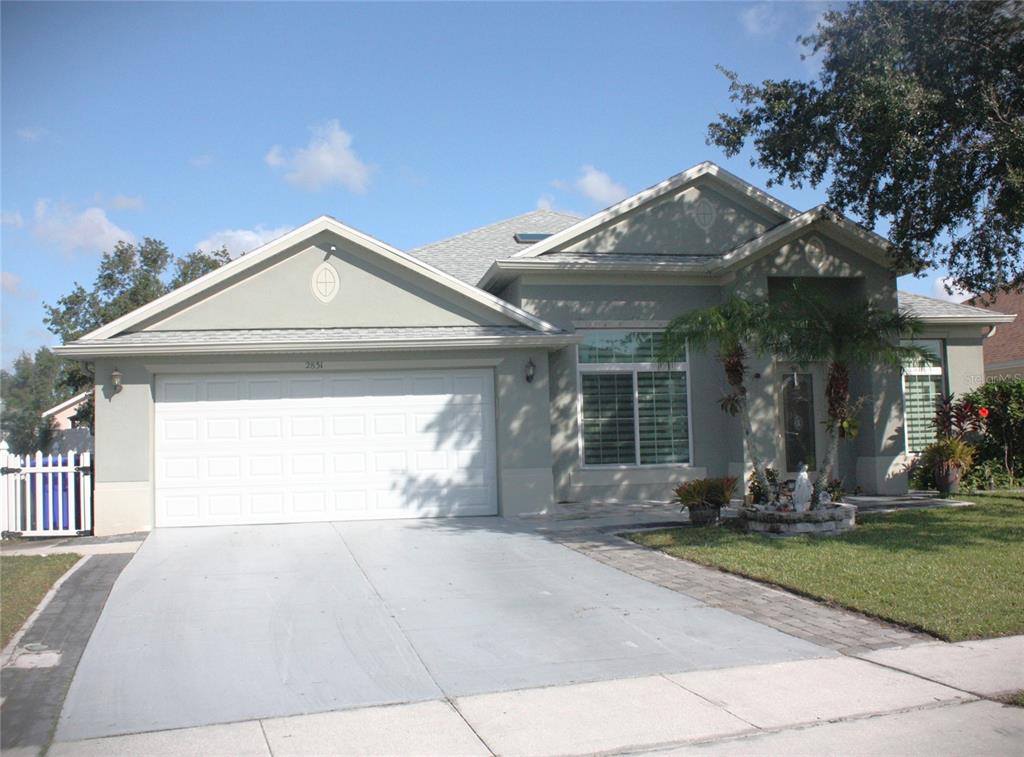
[[[826,297],[800,282],[794,284],[788,297],[772,306],[763,329],[765,347],[794,363],[828,366],[828,449],[814,482],[813,505],[818,504],[822,489],[831,480],[839,440],[857,435],[860,402],[851,402],[851,368],[898,368],[909,361],[927,359],[925,350],[900,345],[900,339],[920,331],[920,322],[904,312],[879,307],[866,299]]]

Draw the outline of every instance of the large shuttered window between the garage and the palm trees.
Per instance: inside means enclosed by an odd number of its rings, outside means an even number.
[[[580,345],[584,465],[690,462],[686,355],[657,363],[655,331],[587,331]]]

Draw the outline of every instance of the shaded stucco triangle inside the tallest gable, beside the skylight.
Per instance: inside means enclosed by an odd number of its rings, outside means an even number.
[[[696,220],[701,201],[711,208],[710,225]],[[761,205],[724,195],[705,179],[626,213],[613,223],[560,249],[569,252],[616,252],[714,255],[764,234],[784,220]]]

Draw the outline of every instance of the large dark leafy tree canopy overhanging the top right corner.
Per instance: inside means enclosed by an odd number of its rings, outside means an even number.
[[[816,81],[730,81],[708,140],[771,183],[890,221],[894,262],[972,292],[1024,283],[1024,2],[850,3],[800,38]]]

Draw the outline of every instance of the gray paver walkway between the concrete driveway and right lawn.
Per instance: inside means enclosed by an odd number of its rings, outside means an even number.
[[[935,640],[859,613],[682,560],[615,534],[582,529],[549,536],[624,573],[844,655]]]

